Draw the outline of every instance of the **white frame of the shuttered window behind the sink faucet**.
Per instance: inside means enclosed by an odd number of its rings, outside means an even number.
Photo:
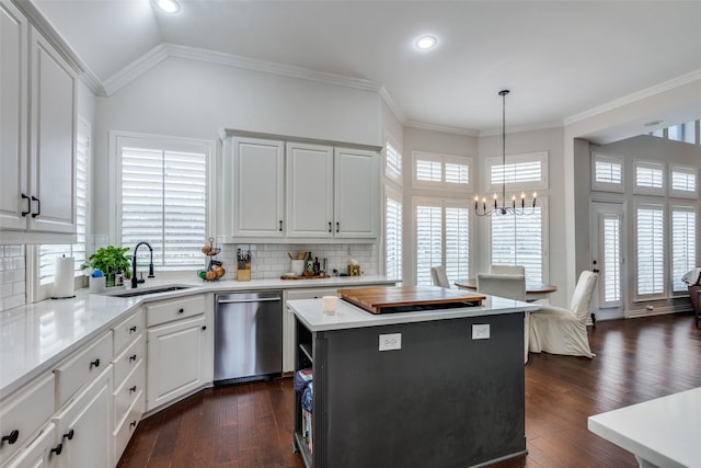
[[[174,137],[165,135],[143,134],[136,132],[110,130],[110,238],[115,246],[122,244],[122,147],[124,142],[138,146],[141,149],[162,150],[164,145],[172,145],[169,149],[204,150],[206,157],[206,202],[205,202],[205,232],[215,232],[216,214],[216,165],[218,147],[215,141],[197,138]],[[210,235],[205,235],[211,237]],[[206,239],[203,239],[205,242]],[[204,265],[204,260],[203,260]],[[183,269],[164,267],[169,272],[191,272],[195,266]]]

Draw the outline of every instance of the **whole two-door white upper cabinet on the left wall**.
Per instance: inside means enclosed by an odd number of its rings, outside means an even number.
[[[76,71],[7,0],[0,32],[3,241],[69,240],[55,235],[76,232]]]

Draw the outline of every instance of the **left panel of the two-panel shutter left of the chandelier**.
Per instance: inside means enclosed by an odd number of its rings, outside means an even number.
[[[416,284],[430,285],[430,267],[443,262],[443,208],[416,207]]]

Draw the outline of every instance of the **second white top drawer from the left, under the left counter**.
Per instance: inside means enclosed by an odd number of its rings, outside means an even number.
[[[88,379],[100,374],[112,361],[112,331],[78,351],[58,366],[56,374],[56,408],[61,408]]]

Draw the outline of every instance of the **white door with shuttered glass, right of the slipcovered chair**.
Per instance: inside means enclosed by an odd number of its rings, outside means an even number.
[[[595,315],[623,317],[625,308],[624,208],[618,202],[591,202],[591,271],[599,274],[591,301]]]

